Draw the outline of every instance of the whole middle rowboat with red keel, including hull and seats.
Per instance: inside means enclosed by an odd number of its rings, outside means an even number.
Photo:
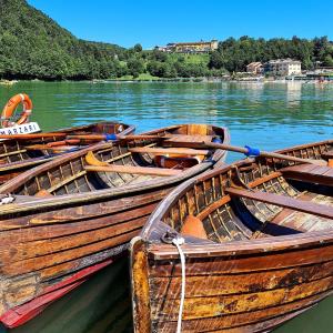
[[[29,320],[110,264],[172,188],[221,165],[226,154],[188,145],[229,142],[225,129],[211,125],[144,134],[154,139],[98,143],[0,186],[0,321],[7,326]],[[165,134],[168,140],[160,139]]]

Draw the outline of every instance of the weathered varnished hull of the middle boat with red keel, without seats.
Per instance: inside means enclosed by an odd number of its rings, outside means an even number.
[[[1,193],[10,192],[16,198],[0,209],[0,320],[8,326],[29,320],[97,268],[121,256],[175,185],[225,158],[225,152],[216,151],[213,159],[184,174],[132,183],[137,178],[123,174],[90,178],[84,170],[89,151],[119,163],[135,160],[129,155],[127,143],[97,144],[0,186]],[[56,195],[38,198],[34,194],[39,189]]]

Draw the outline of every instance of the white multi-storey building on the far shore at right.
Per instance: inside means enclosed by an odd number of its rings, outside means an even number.
[[[264,64],[264,71],[272,75],[297,75],[302,73],[301,61],[293,59],[270,60]]]

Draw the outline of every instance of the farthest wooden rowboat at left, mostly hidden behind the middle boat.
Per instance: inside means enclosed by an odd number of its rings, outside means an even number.
[[[133,125],[105,121],[52,132],[52,134],[61,133],[57,137],[50,137],[50,133],[46,133],[46,137],[38,134],[34,139],[27,139],[34,135],[22,135],[22,139],[0,141],[0,184],[31,167],[58,157],[59,153],[78,150],[87,145],[84,142],[85,145],[80,147],[79,140],[65,140],[69,134],[122,133],[127,135],[133,133],[134,130]],[[14,137],[18,138],[18,135]]]

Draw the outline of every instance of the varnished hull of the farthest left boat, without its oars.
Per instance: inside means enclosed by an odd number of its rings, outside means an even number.
[[[61,129],[54,133],[65,134],[91,134],[91,133],[122,133],[123,135],[133,133],[135,128],[118,122],[100,122],[88,125]],[[64,140],[64,137],[46,137],[40,139],[3,140],[0,141],[0,184],[14,178],[19,173],[50,161],[54,155],[47,150],[28,150],[27,147],[34,144],[46,144]]]

